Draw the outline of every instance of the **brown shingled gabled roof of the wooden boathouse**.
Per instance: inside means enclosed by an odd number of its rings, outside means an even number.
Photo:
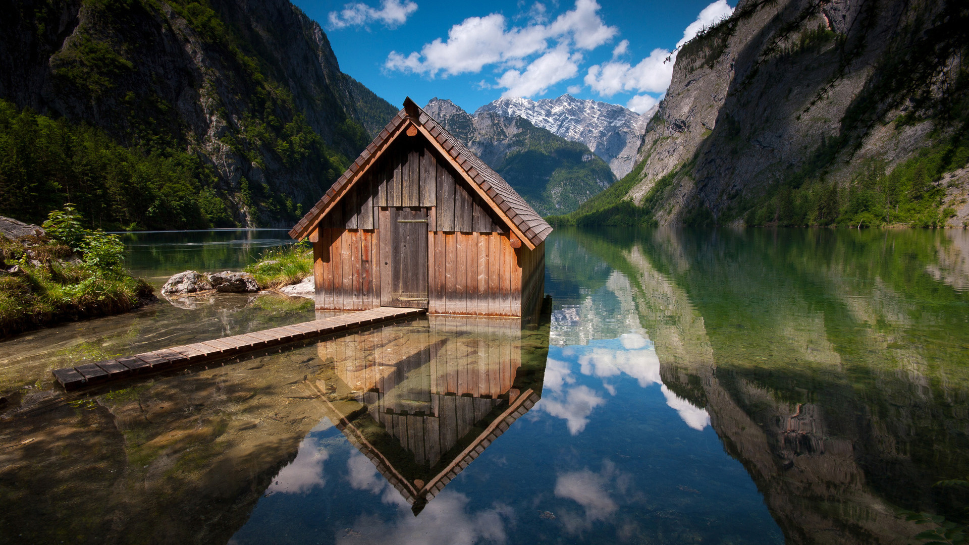
[[[308,236],[324,215],[353,187],[360,176],[408,127],[418,131],[448,159],[458,174],[481,195],[494,211],[506,220],[516,236],[528,247],[535,248],[551,233],[551,226],[525,200],[512,189],[505,178],[491,170],[477,155],[461,144],[451,133],[438,124],[433,117],[424,112],[410,98],[404,100],[404,109],[393,116],[373,140],[359,154],[353,165],[337,178],[327,193],[296,226],[290,230],[290,237],[300,240]]]

